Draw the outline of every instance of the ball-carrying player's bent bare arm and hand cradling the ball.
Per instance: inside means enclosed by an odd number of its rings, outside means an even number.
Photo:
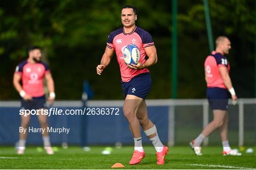
[[[154,65],[157,62],[157,53],[156,53],[156,48],[155,45],[145,47],[145,52],[148,57],[148,59],[145,61],[145,63],[140,63],[138,62],[137,65],[132,64],[132,66],[127,65],[129,68],[133,69],[143,69],[143,68],[148,68],[152,65]]]

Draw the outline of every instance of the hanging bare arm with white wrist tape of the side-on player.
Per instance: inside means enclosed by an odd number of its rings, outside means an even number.
[[[222,77],[222,80],[224,82],[224,85],[229,89],[229,92],[231,93],[231,98],[233,99],[233,104],[236,103],[238,100],[238,97],[235,93],[235,90],[232,86],[231,79],[229,77],[229,71],[227,67],[219,67],[219,73]]]

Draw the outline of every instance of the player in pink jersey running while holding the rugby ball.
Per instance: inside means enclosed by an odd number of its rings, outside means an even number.
[[[114,52],[116,52],[121,73],[121,85],[125,95],[123,112],[128,120],[135,143],[129,164],[135,165],[145,157],[140,126],[155,146],[157,164],[164,164],[164,157],[168,148],[162,144],[155,125],[148,119],[145,102],[151,87],[151,77],[147,68],[157,62],[157,54],[152,36],[137,27],[135,25],[136,20],[137,9],[126,5],[121,11],[123,27],[110,33],[107,47],[101,58],[101,64],[97,66],[96,71],[98,75],[101,75],[102,71],[109,65]],[[123,60],[123,50],[130,43],[137,45],[140,51],[140,59],[137,65],[126,65]],[[146,56],[148,59],[145,58]]]

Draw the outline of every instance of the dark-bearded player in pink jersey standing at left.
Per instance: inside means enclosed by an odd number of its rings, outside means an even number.
[[[44,91],[44,78],[48,90],[50,92],[48,101],[52,105],[55,99],[54,81],[49,67],[46,63],[41,61],[42,53],[40,47],[31,46],[28,49],[28,59],[22,61],[16,67],[13,84],[21,96],[21,109],[25,110],[41,110],[45,108],[46,96]],[[22,84],[20,83],[22,82]],[[47,115],[43,115],[41,111],[38,112],[38,120],[41,128],[47,129]],[[30,121],[30,115],[21,115],[20,127],[27,128]],[[25,144],[27,138],[27,131],[19,133],[19,141],[17,153],[23,154],[25,151]],[[47,130],[43,133],[44,148],[47,154],[53,154],[50,138]]]

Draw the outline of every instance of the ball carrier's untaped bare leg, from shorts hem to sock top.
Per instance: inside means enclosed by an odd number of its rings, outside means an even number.
[[[134,138],[141,137],[140,124],[136,113],[142,101],[141,98],[128,94],[123,105],[124,116],[128,120]]]

